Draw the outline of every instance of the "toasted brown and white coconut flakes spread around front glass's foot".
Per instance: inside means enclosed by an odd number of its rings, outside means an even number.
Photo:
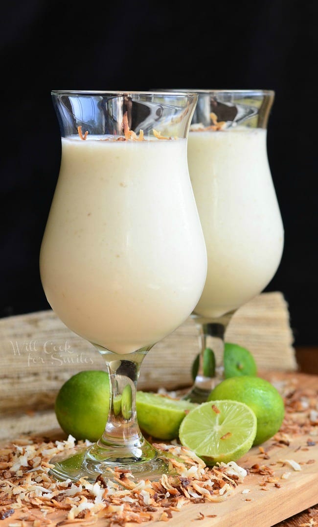
[[[79,446],[84,444],[78,442]],[[51,479],[48,474],[52,467],[50,458],[74,446],[73,436],[63,442],[29,437],[25,443],[16,441],[0,449],[2,517],[8,518],[15,511],[13,522],[18,516],[23,521],[45,525],[50,524],[47,512],[59,511],[64,514],[59,525],[72,522],[89,525],[101,518],[107,527],[114,523],[150,521],[158,512],[158,518],[168,521],[172,512],[178,512],[190,502],[227,499],[247,474],[234,462],[209,468],[188,448],[160,443],[154,446],[160,457],[169,463],[173,475],[163,474],[159,481],[137,481],[127,470],[115,470],[115,481],[105,480],[102,475],[95,483],[85,478],[78,482]]]

